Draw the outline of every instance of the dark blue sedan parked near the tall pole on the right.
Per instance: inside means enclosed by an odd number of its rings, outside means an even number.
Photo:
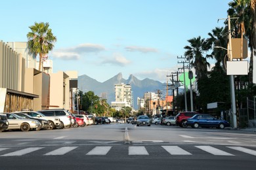
[[[219,120],[209,114],[195,114],[191,118],[188,118],[188,122],[186,122],[186,125],[194,128],[217,127],[219,129],[224,129],[224,127],[230,126],[228,121]]]

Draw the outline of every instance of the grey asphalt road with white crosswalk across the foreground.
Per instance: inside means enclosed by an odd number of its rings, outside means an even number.
[[[109,124],[0,133],[0,169],[255,169],[256,133]]]

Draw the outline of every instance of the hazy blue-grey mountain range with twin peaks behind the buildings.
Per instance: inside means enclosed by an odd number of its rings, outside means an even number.
[[[130,84],[133,91],[133,108],[137,109],[137,97],[142,98],[146,92],[157,92],[157,90],[166,91],[166,83],[161,83],[156,80],[145,78],[139,80],[133,75],[125,80],[121,73],[106,80],[105,82],[98,82],[94,78],[87,75],[78,76],[78,87],[83,93],[93,91],[95,95],[100,96],[101,93],[107,93],[107,102],[110,104],[115,101],[115,84]],[[162,94],[163,96],[163,94]]]

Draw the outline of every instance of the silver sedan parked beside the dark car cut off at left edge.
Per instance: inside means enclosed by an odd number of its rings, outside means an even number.
[[[30,129],[41,129],[41,123],[37,120],[22,118],[14,113],[4,113],[7,116],[9,126],[7,129],[20,129],[21,131],[29,131]]]

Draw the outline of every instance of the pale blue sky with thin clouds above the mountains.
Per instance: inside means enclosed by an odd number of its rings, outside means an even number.
[[[99,82],[122,73],[166,82],[182,67],[188,39],[223,27],[231,0],[2,1],[0,40],[25,42],[29,26],[49,22],[57,37],[53,70]]]

